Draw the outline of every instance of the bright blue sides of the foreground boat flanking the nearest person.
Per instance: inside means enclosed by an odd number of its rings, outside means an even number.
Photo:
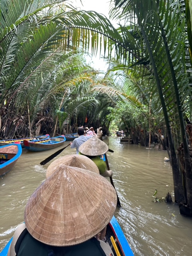
[[[0,252],[0,256],[7,256],[12,238]],[[125,236],[118,224],[118,221],[113,216],[110,223],[107,225],[106,242],[112,248],[114,256],[134,256]]]

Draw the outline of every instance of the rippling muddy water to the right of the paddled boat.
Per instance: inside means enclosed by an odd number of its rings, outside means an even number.
[[[190,219],[181,216],[174,203],[153,202],[155,189],[157,197],[165,197],[170,192],[174,201],[172,169],[170,163],[164,162],[167,152],[145,150],[136,145],[119,146],[120,142],[115,139],[110,143],[110,148],[118,151],[108,156],[122,205],[116,211],[116,218],[134,255],[191,255]]]

